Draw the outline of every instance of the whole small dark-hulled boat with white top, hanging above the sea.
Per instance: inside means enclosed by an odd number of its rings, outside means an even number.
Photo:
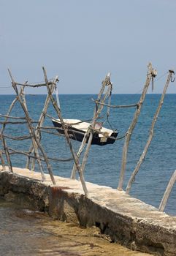
[[[59,119],[52,119],[52,121],[58,132],[64,134],[61,121]],[[78,141],[83,140],[85,132],[87,132],[88,127],[91,125],[90,123],[78,119],[64,119],[64,124],[68,126],[69,138]],[[93,133],[92,144],[104,146],[106,144],[115,143],[115,138],[117,138],[118,132],[114,132],[112,129],[102,127],[101,122],[96,122],[95,129],[97,132]],[[88,143],[88,138],[86,143]]]

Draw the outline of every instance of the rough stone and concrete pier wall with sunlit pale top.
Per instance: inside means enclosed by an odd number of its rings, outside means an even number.
[[[1,169],[1,168],[0,168]],[[13,168],[0,171],[0,195],[7,200],[47,211],[51,217],[80,225],[99,227],[112,241],[153,255],[176,255],[176,217],[110,187],[86,182],[85,197],[80,181]]]

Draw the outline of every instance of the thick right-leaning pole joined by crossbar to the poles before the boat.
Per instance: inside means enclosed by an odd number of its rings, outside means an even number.
[[[139,103],[138,103],[138,108],[134,113],[134,118],[133,121],[131,122],[131,125],[126,133],[126,138],[125,138],[125,142],[123,145],[123,155],[122,155],[122,164],[121,164],[121,170],[120,170],[120,178],[119,178],[119,182],[118,182],[118,189],[122,190],[123,189],[123,179],[125,176],[125,170],[126,170],[126,160],[127,160],[127,153],[128,153],[128,148],[129,148],[129,141],[131,140],[131,135],[132,132],[134,130],[134,127],[137,124],[137,120],[139,118],[141,109],[142,109],[142,104],[145,100],[145,95],[147,94],[148,91],[148,86],[150,85],[150,81],[153,77],[153,68],[152,68],[152,64],[149,63],[148,64],[148,75],[147,75],[147,79],[145,81],[145,86],[144,89],[142,91],[142,95],[139,99]]]

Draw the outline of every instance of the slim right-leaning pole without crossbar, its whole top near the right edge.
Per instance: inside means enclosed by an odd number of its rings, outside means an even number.
[[[149,148],[150,143],[151,143],[151,141],[152,141],[152,139],[153,139],[154,127],[155,127],[156,121],[157,121],[157,119],[158,119],[158,114],[160,113],[161,107],[162,107],[162,105],[163,105],[164,97],[165,97],[165,94],[166,94],[166,92],[167,92],[167,88],[168,88],[168,86],[169,86],[169,82],[170,82],[170,80],[172,79],[172,74],[173,74],[173,73],[174,73],[174,71],[169,70],[169,75],[168,75],[168,77],[167,77],[167,82],[166,82],[166,84],[165,84],[165,86],[164,86],[164,91],[163,91],[163,93],[162,93],[162,95],[161,95],[161,99],[160,99],[160,101],[159,101],[159,103],[158,103],[158,108],[157,108],[157,110],[156,110],[156,113],[155,113],[155,115],[153,116],[153,121],[152,121],[152,124],[151,124],[151,127],[150,127],[150,134],[149,134],[148,141],[147,141],[147,143],[146,143],[146,145],[145,145],[145,148],[144,148],[144,151],[142,152],[141,157],[139,158],[139,161],[137,162],[137,166],[135,167],[133,173],[131,174],[131,177],[130,177],[130,179],[129,179],[129,183],[127,184],[127,187],[126,187],[126,194],[129,194],[130,189],[131,189],[131,184],[133,183],[134,178],[135,178],[135,176],[137,175],[137,173],[138,173],[138,171],[139,171],[139,167],[142,165],[142,162],[144,161],[145,156],[146,156],[146,154],[147,154],[147,152],[148,152],[148,148]]]

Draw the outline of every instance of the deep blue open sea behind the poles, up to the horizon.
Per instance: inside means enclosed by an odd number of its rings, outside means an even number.
[[[45,102],[45,95],[26,95],[26,102],[31,118],[37,120]],[[112,95],[112,105],[127,105],[139,101],[139,94],[115,94]],[[145,143],[148,140],[149,129],[153,115],[158,106],[161,95],[148,94],[146,96],[142,113],[131,137],[126,165],[126,176],[123,189],[131,176],[137,161],[142,154]],[[6,114],[14,95],[0,95],[0,114]],[[93,116],[93,102],[96,99],[93,94],[72,94],[61,95],[61,110],[64,118],[77,118],[87,120]],[[135,108],[111,109],[110,124],[113,129],[118,129],[119,136],[123,136],[134,116]],[[50,105],[47,111],[51,116],[57,117],[53,106]],[[20,105],[15,105],[12,116],[24,116]],[[110,128],[104,116],[104,127]],[[3,118],[1,118],[1,121]],[[45,126],[52,126],[50,118],[45,119]],[[21,136],[28,135],[28,129],[24,124],[7,124],[5,134]],[[85,167],[85,180],[96,184],[118,187],[121,156],[124,140],[117,140],[113,145],[91,146],[88,162]],[[80,143],[72,140],[74,149],[77,150]],[[7,146],[18,150],[28,151],[30,141],[20,142],[7,140]],[[66,140],[53,135],[42,134],[42,146],[49,157],[67,158],[70,157],[69,147]],[[131,195],[158,207],[169,178],[176,169],[176,94],[167,94],[164,105],[158,116],[155,127],[155,134],[150,144],[148,154],[140,167],[139,173],[132,185]],[[25,167],[26,157],[19,155],[12,156],[12,165]],[[58,176],[69,177],[72,171],[73,162],[52,162],[54,173]],[[176,185],[172,189],[165,211],[176,215]]]

